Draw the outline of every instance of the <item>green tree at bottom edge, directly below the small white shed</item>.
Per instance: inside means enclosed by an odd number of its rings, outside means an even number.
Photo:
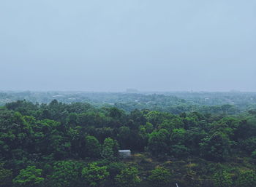
[[[138,170],[135,167],[129,167],[121,170],[121,173],[116,175],[116,185],[119,187],[135,187],[140,183],[138,178]]]

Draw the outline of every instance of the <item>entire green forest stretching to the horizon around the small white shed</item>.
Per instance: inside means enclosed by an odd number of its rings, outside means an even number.
[[[2,187],[256,186],[256,93],[2,92],[0,102]]]

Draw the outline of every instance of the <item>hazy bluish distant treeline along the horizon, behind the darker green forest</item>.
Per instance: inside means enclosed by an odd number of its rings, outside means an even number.
[[[16,100],[32,103],[90,103],[95,107],[115,106],[124,111],[135,109],[165,111],[172,114],[198,111],[200,113],[238,114],[256,108],[253,92],[0,92],[0,106]]]

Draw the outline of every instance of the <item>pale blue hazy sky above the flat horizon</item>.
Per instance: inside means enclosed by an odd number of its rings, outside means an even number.
[[[256,1],[0,1],[0,90],[127,88],[256,92]]]

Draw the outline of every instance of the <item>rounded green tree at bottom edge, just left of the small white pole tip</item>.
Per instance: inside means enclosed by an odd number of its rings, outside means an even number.
[[[151,171],[151,175],[148,177],[150,186],[165,187],[170,186],[172,175],[169,170],[164,167],[156,167]]]

